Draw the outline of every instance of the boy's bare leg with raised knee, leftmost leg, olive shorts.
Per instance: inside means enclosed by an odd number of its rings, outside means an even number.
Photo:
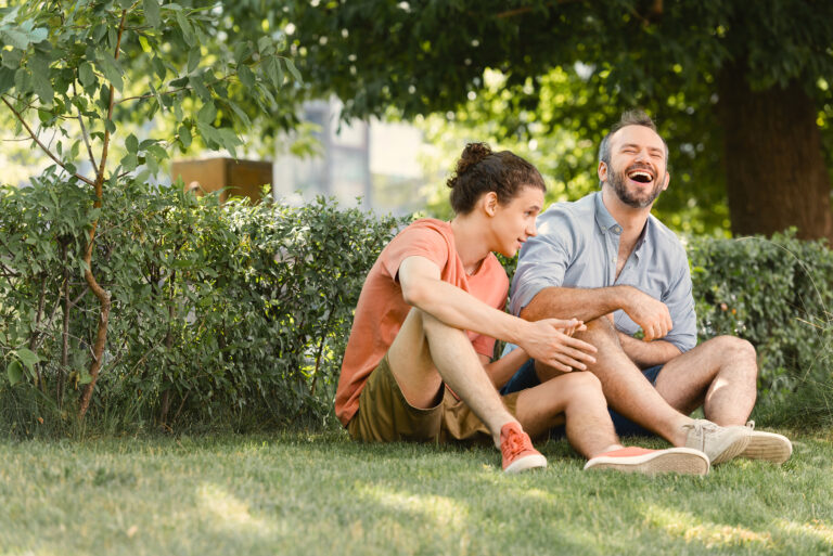
[[[488,427],[495,445],[500,429],[516,421],[507,411],[467,335],[416,308],[388,350],[390,371],[408,403],[430,408],[445,380]]]

